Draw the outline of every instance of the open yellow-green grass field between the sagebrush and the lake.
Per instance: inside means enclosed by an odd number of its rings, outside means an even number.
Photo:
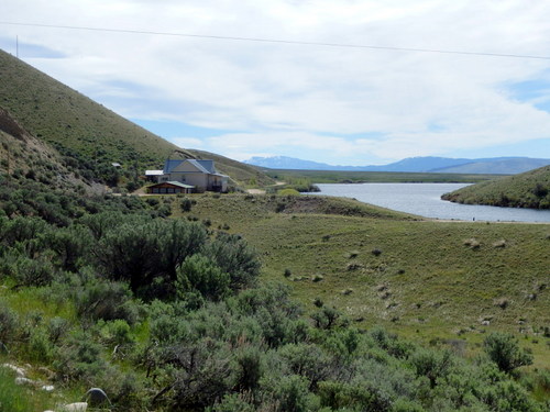
[[[311,312],[320,300],[362,326],[466,352],[486,332],[514,332],[550,367],[549,225],[435,222],[317,197],[193,198],[175,214],[242,234],[262,279],[290,285]]]

